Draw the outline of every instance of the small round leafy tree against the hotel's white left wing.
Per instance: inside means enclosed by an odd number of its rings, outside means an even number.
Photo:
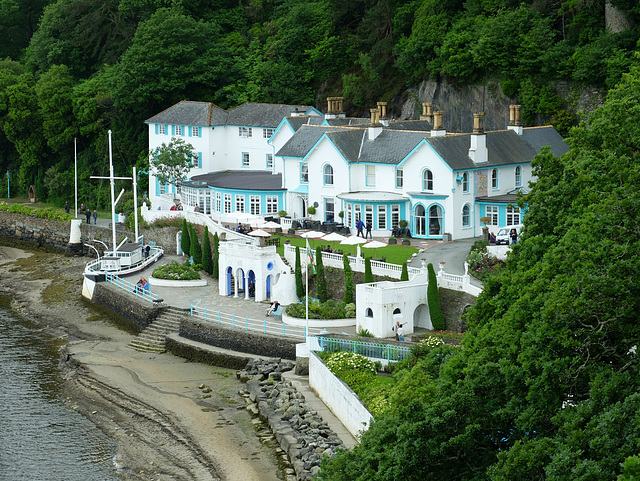
[[[191,167],[197,164],[198,154],[193,146],[180,138],[164,142],[150,153],[149,164],[161,184],[174,184],[183,180]]]

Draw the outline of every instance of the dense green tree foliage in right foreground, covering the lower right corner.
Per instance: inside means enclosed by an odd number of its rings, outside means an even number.
[[[536,157],[522,240],[468,312],[464,349],[416,371],[421,391],[406,390],[323,479],[604,481],[622,463],[633,475],[639,106],[634,67],[572,130],[571,152]]]

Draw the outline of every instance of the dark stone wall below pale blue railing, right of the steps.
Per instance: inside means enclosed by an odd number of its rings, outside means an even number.
[[[266,336],[241,329],[227,329],[215,323],[186,319],[180,325],[180,336],[211,346],[266,357],[296,359],[296,344],[286,337]]]

